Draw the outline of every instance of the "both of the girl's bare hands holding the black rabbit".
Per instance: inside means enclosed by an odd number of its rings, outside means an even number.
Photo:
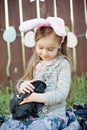
[[[31,84],[32,81],[20,81],[19,87],[18,87],[18,91],[21,93],[25,93],[25,92],[32,92],[32,94],[26,98],[24,98],[24,100],[20,103],[20,104],[24,104],[27,102],[39,102],[39,103],[46,103],[46,96],[45,94],[41,94],[41,93],[35,93],[34,92],[34,86]]]

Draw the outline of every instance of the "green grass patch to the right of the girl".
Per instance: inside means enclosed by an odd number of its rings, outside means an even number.
[[[87,72],[82,76],[75,76],[71,84],[71,92],[67,99],[67,106],[87,103]]]

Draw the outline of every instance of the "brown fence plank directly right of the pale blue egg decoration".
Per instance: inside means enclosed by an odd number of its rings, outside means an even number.
[[[9,9],[9,25],[16,29],[19,33],[19,6],[18,0],[8,0]],[[16,82],[23,75],[23,61],[20,37],[11,43],[11,65],[10,65],[10,79]]]

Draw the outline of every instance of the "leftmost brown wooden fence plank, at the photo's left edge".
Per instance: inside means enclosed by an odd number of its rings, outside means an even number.
[[[0,84],[9,85],[8,77],[6,76],[6,65],[7,65],[7,44],[3,40],[2,36],[5,30],[5,12],[4,12],[4,1],[0,1]]]

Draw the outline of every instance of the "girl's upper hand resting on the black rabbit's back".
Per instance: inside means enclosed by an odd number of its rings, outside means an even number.
[[[20,92],[21,93],[30,93],[34,91],[34,86],[31,84],[33,81],[24,81],[20,85]]]

